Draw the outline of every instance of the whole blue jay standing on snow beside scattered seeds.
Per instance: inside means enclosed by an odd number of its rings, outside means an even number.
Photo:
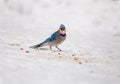
[[[49,46],[50,49],[52,49],[53,46],[55,46],[59,51],[61,51],[60,48],[58,48],[58,45],[61,44],[66,39],[66,29],[63,24],[60,25],[60,28],[53,33],[49,38],[47,38],[45,41],[43,41],[40,44],[36,44],[31,46],[31,48],[38,48],[43,46]]]

